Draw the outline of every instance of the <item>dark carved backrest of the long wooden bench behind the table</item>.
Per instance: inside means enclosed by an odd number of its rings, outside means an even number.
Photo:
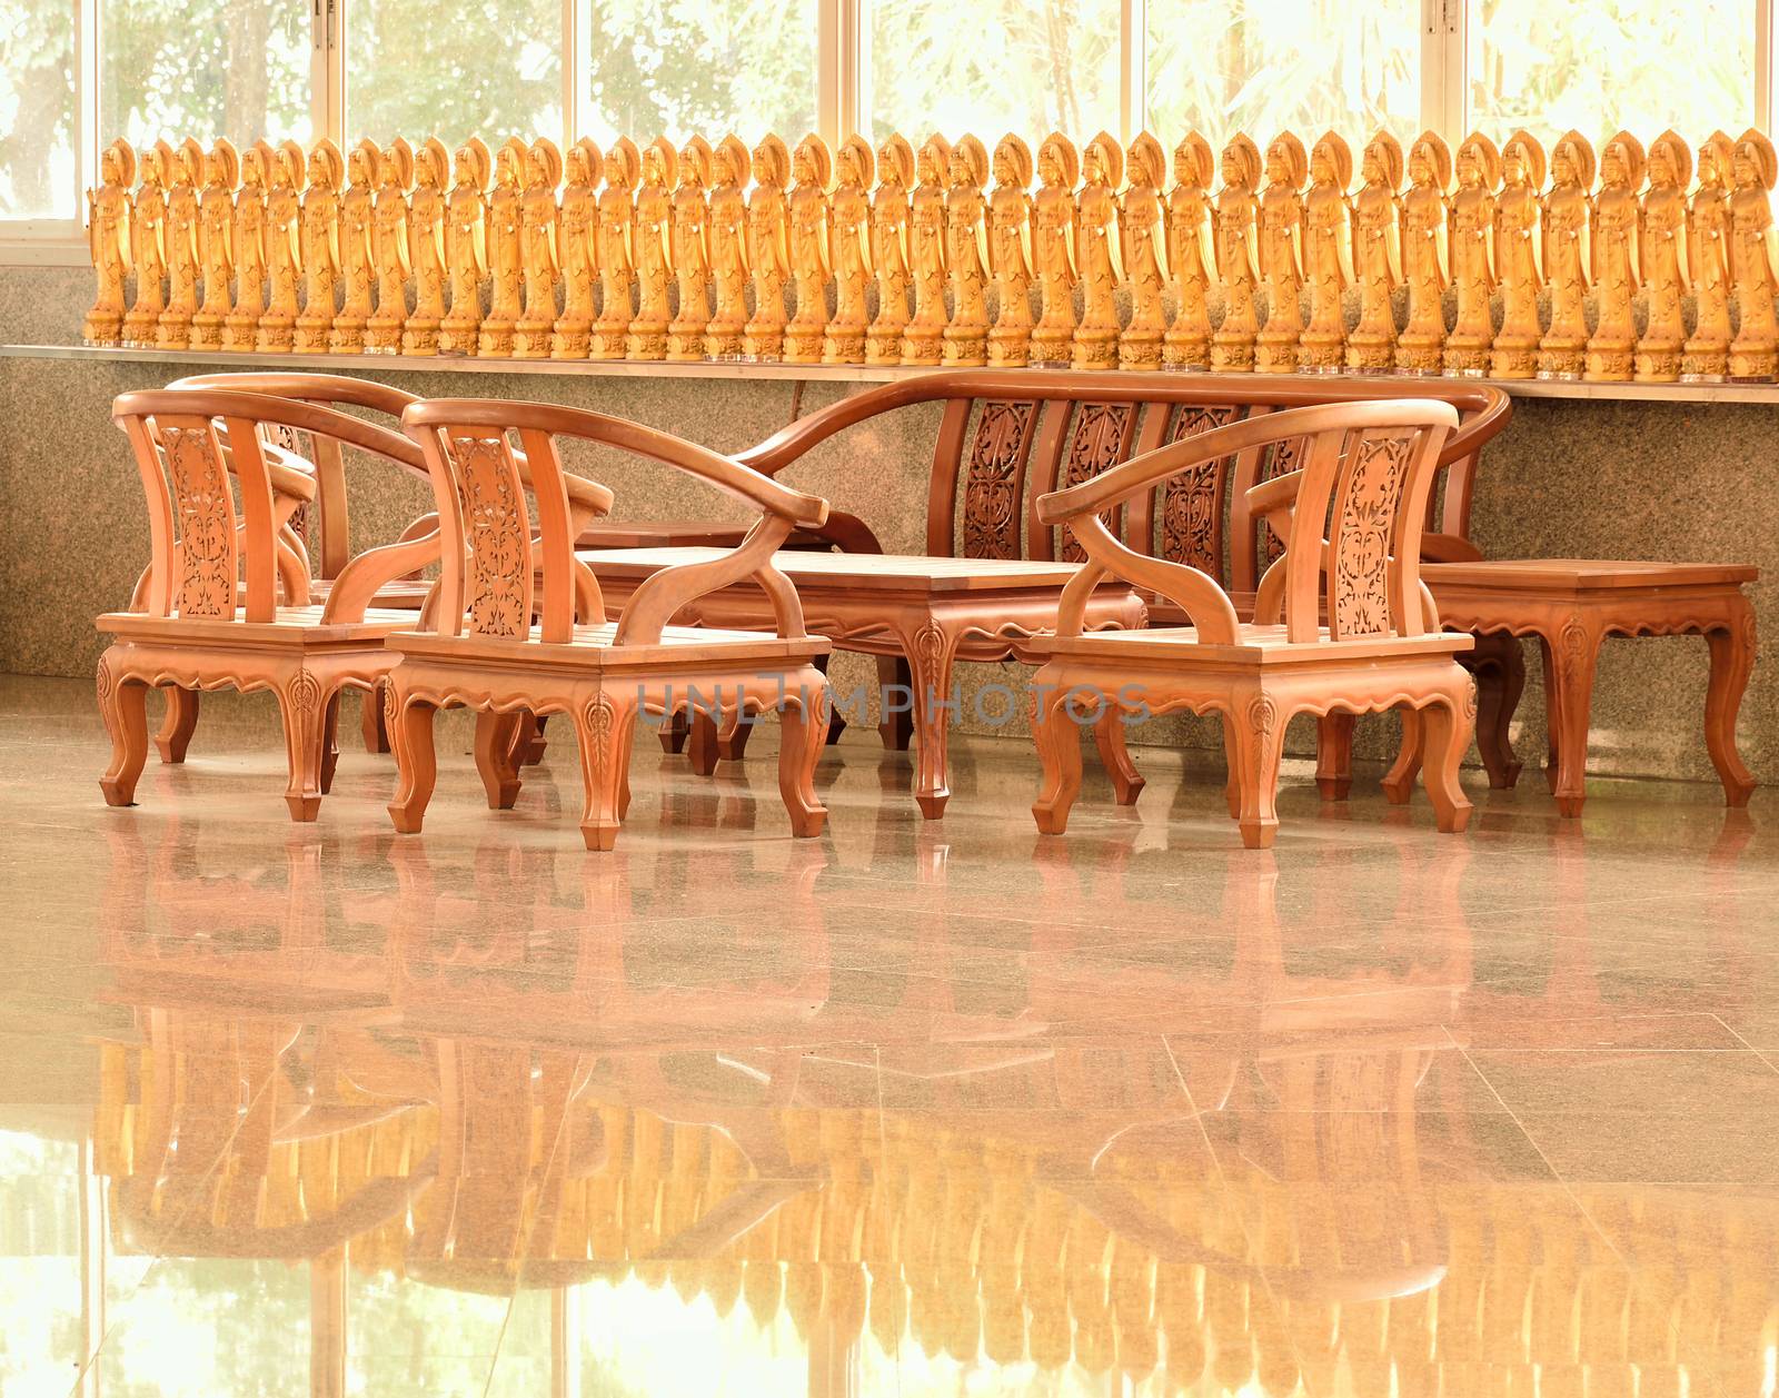
[[[1037,519],[1041,494],[1091,480],[1131,457],[1219,427],[1292,407],[1430,398],[1461,427],[1443,448],[1443,500],[1429,502],[1429,530],[1468,541],[1471,480],[1482,446],[1512,404],[1496,388],[1267,375],[1080,374],[1067,370],[945,370],[902,379],[811,413],[737,461],[769,475],[818,441],[881,413],[943,402],[929,473],[927,553],[966,558],[1075,558],[1078,546]],[[1302,464],[1302,439],[1204,461],[1139,494],[1112,521],[1139,553],[1195,567],[1233,592],[1252,592],[1279,544],[1245,503],[1251,486]],[[1446,551],[1462,551],[1453,542]]]

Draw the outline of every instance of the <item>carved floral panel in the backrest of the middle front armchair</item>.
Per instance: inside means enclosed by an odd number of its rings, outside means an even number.
[[[518,462],[500,432],[447,434],[445,441],[463,502],[470,631],[525,637],[532,626],[532,526]]]

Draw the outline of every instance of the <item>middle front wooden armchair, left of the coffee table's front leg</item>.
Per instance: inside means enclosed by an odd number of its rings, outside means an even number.
[[[630,736],[637,713],[783,710],[779,790],[799,836],[820,834],[815,761],[827,724],[827,679],[815,669],[827,640],[809,637],[772,551],[797,526],[815,528],[827,502],[786,489],[680,438],[548,404],[439,398],[402,414],[422,446],[445,535],[436,631],[400,631],[391,649],[386,719],[402,774],[390,806],[395,827],[420,829],[436,777],[432,715],[477,710],[477,768],[489,806],[519,791],[511,761],[521,711],[566,713],[580,743],[589,848],[612,848],[630,799]],[[585,564],[575,558],[568,480],[555,438],[571,436],[687,471],[747,500],[760,519],[737,550],[671,567],[640,585],[617,623]],[[527,503],[512,438],[530,462],[537,516]],[[603,486],[601,510],[612,503]],[[729,583],[753,580],[772,599],[776,631],[715,631],[667,623]],[[532,624],[532,617],[539,617]]]

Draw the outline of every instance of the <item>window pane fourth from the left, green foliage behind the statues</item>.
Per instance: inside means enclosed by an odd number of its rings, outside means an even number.
[[[817,0],[594,0],[584,128],[598,141],[817,128]]]

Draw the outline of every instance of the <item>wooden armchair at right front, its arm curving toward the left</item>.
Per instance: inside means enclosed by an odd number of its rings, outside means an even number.
[[[1469,802],[1459,761],[1475,727],[1475,681],[1455,655],[1469,637],[1429,630],[1420,583],[1421,532],[1439,452],[1457,425],[1450,404],[1331,404],[1270,413],[1162,446],[1037,502],[1046,525],[1067,525],[1087,567],[1064,598],[1053,637],[1035,637],[1032,727],[1044,791],[1032,815],[1060,834],[1080,791],[1076,713],[1217,710],[1229,756],[1229,815],[1249,847],[1277,831],[1274,791],[1284,726],[1295,713],[1423,711],[1427,791],[1441,831],[1461,831]],[[1268,443],[1302,443],[1297,519],[1331,519],[1327,539],[1293,537],[1261,578],[1256,612],[1283,601],[1283,624],[1242,623],[1203,571],[1135,553],[1105,523],[1160,482]],[[1179,608],[1192,624],[1083,633],[1083,599],[1115,574]],[[1325,623],[1324,623],[1325,612]]]

